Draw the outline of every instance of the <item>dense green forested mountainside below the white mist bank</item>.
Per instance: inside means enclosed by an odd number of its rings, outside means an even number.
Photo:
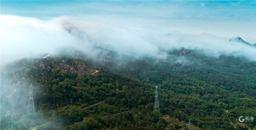
[[[180,52],[166,61],[113,52],[97,62],[80,53],[15,61],[1,74],[0,129],[189,130],[190,120],[191,130],[256,130],[255,120],[238,121],[256,117],[256,62]],[[26,113],[31,83],[35,113]]]

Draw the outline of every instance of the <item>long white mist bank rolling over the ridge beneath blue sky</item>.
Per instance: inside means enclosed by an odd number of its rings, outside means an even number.
[[[137,58],[154,56],[162,59],[166,58],[166,51],[184,47],[202,50],[207,56],[244,56],[256,61],[255,47],[207,33],[187,34],[157,29],[156,26],[145,28],[131,25],[132,28],[128,28],[118,23],[115,26],[115,23],[110,25],[77,17],[44,21],[0,15],[0,19],[1,65],[29,57],[29,51],[37,55],[53,52],[61,46],[72,46],[91,56],[97,53],[93,47],[102,47]]]

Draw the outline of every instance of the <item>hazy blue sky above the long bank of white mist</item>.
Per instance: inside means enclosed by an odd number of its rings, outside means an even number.
[[[1,0],[1,14],[50,20],[60,16],[82,17],[108,24],[156,25],[186,33],[251,37],[256,43],[256,2],[251,1],[55,1]],[[129,23],[130,22],[130,23]],[[135,24],[135,25],[136,25]],[[182,29],[177,26],[183,26]],[[198,29],[195,29],[198,28]],[[219,31],[212,29],[216,28]],[[235,33],[236,29],[241,34]],[[190,31],[189,31],[190,30]],[[228,34],[226,30],[230,30]],[[216,32],[215,32],[216,31]],[[225,31],[224,33],[221,33]],[[234,33],[234,34],[233,34]],[[244,33],[250,36],[245,36]]]

